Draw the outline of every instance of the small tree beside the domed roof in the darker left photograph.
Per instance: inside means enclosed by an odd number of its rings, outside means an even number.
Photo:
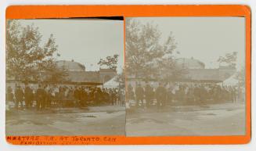
[[[118,55],[106,56],[106,59],[99,60],[99,66],[106,66],[109,69],[117,70]]]

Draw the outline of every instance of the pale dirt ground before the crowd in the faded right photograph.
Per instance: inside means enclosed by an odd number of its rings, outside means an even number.
[[[126,118],[128,136],[245,134],[245,106],[238,103],[139,109]]]

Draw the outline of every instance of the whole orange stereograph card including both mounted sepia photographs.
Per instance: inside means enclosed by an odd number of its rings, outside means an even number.
[[[245,5],[13,5],[5,29],[11,144],[251,140]]]

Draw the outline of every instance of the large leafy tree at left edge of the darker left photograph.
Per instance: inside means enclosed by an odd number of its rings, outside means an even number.
[[[42,35],[34,24],[21,27],[19,21],[8,20],[6,25],[6,74],[16,81],[43,81],[49,70],[55,66],[54,52],[57,51],[55,38],[51,34],[44,45]],[[48,77],[54,74],[49,72]]]

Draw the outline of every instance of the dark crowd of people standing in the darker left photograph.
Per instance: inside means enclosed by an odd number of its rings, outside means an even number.
[[[53,106],[85,107],[101,105],[124,106],[124,90],[121,88],[97,88],[85,86],[49,86],[39,84],[38,88],[25,84],[8,87],[7,102],[14,102],[15,108],[44,110]]]

